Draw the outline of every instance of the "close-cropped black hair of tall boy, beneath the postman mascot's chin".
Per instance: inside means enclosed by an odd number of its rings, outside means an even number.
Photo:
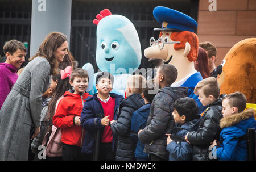
[[[177,69],[174,65],[163,64],[159,67],[159,71],[163,74],[168,85],[171,85],[177,79]]]

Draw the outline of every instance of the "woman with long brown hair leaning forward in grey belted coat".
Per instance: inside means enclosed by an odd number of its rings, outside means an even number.
[[[67,49],[63,33],[49,33],[20,74],[0,110],[0,160],[28,160],[30,138],[40,132],[42,94]]]

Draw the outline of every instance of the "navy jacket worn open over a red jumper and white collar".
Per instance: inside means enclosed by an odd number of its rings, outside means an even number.
[[[117,120],[118,107],[123,97],[115,93],[110,93],[110,97],[115,99],[114,120]],[[102,134],[104,130],[104,126],[101,124],[101,118],[96,118],[96,114],[104,114],[100,100],[97,98],[97,93],[94,94],[93,97],[87,98],[82,108],[81,127],[86,131],[84,143],[82,144],[82,153],[93,154],[96,132],[100,129]],[[115,136],[113,136],[113,150],[114,142],[116,141]]]

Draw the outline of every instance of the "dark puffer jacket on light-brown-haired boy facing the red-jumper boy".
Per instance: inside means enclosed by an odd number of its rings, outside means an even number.
[[[133,112],[144,105],[144,99],[141,94],[131,94],[120,104],[119,116],[116,123],[111,125],[112,131],[118,136],[118,142],[115,147],[117,151],[115,160],[131,161],[134,160],[134,151],[137,142],[131,140],[131,116]]]

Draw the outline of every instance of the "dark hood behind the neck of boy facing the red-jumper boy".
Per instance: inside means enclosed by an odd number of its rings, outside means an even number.
[[[135,109],[138,109],[144,105],[144,100],[141,97],[141,94],[134,93],[129,95],[126,99],[123,100],[121,106],[128,106]]]

